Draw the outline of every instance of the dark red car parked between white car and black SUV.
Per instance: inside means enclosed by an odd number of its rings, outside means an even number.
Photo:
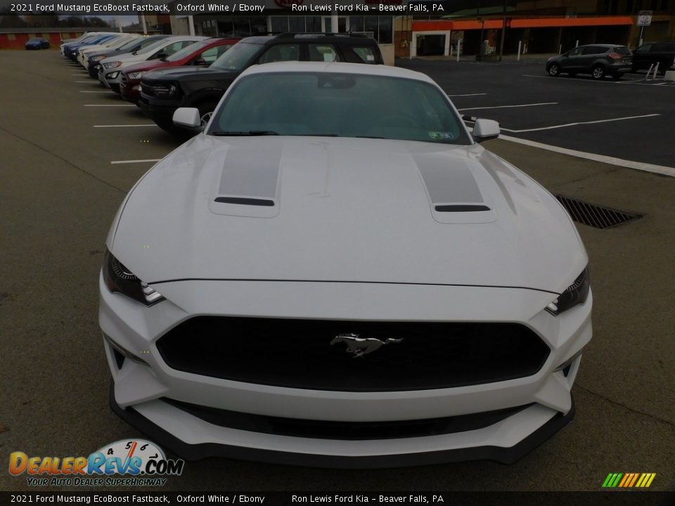
[[[122,98],[137,103],[141,96],[141,77],[151,70],[180,66],[208,67],[238,41],[239,39],[206,39],[182,48],[167,58],[130,65],[122,71]]]

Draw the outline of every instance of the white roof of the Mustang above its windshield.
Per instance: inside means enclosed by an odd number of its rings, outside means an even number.
[[[415,79],[435,84],[427,74],[414,72],[413,70],[390,65],[365,65],[364,63],[342,62],[276,62],[264,65],[252,65],[242,72],[242,76],[252,74],[279,74],[283,72],[330,72],[342,74],[361,74],[381,77],[399,77],[403,79]]]

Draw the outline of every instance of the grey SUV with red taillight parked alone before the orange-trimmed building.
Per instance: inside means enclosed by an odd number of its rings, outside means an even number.
[[[631,49],[617,44],[579,46],[546,61],[546,72],[553,77],[560,74],[569,74],[570,77],[591,74],[593,79],[604,79],[607,75],[620,79],[630,71]]]

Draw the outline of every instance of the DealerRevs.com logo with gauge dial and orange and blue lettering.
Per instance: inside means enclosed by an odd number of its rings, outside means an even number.
[[[184,460],[167,459],[160,447],[143,439],[116,441],[89,457],[29,457],[20,451],[9,455],[10,474],[27,474],[29,486],[163,486],[163,476],[180,476],[184,465]]]

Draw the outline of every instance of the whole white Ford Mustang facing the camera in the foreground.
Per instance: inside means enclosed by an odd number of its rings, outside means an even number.
[[[588,257],[476,142],[498,134],[408,70],[243,72],[110,229],[113,410],[189,459],[513,462],[548,439],[591,339]]]

